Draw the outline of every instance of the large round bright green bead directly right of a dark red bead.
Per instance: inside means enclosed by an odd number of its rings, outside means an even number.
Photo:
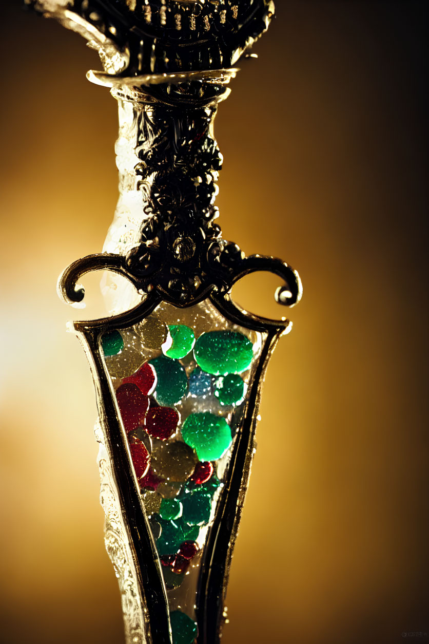
[[[230,426],[210,412],[191,413],[183,423],[182,438],[197,451],[199,460],[216,460],[231,446]]]

